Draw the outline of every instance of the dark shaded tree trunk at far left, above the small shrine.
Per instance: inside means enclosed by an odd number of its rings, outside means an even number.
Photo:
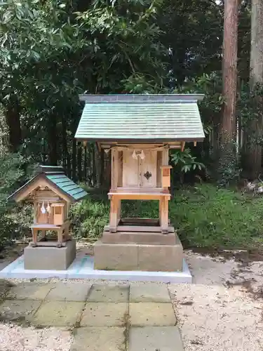
[[[8,126],[8,150],[17,152],[22,144],[21,122],[20,122],[20,107],[15,101],[8,105],[6,110],[6,125]]]

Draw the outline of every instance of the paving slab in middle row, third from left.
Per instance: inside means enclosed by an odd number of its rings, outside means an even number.
[[[123,326],[128,303],[87,303],[81,326]]]

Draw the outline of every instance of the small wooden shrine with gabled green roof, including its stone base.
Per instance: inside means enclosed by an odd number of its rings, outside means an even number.
[[[16,202],[28,201],[34,204],[34,223],[31,226],[32,243],[30,246],[31,248],[37,248],[38,251],[33,253],[31,250],[25,249],[25,265],[29,255],[34,255],[36,260],[41,260],[40,248],[45,249],[43,251],[45,257],[51,254],[48,248],[65,248],[68,251],[67,242],[72,240],[69,234],[69,206],[72,202],[83,199],[86,194],[85,190],[65,176],[62,167],[39,166],[36,176],[8,197],[8,200],[15,200]],[[39,232],[41,233],[40,237]],[[57,239],[55,241],[52,239],[52,236],[48,239],[46,234],[50,232],[56,233]],[[70,247],[74,252],[76,251],[75,243],[71,244]],[[58,256],[58,251],[55,252]],[[60,255],[62,255],[62,251]],[[74,259],[73,256],[74,254],[71,255]],[[50,261],[52,261],[51,257]],[[32,260],[30,260],[29,266],[25,268],[41,269],[39,268],[39,262],[36,262],[34,265]],[[64,265],[62,266],[64,267]],[[47,268],[43,265],[42,269]],[[57,269],[59,268],[57,267]]]

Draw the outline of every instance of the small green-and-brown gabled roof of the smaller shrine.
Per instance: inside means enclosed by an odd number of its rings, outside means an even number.
[[[15,199],[16,195],[20,194],[22,190],[25,190],[25,188],[28,185],[31,185],[40,177],[43,177],[46,180],[48,180],[48,182],[54,185],[60,192],[65,194],[72,201],[79,201],[86,197],[86,195],[88,194],[85,190],[82,189],[82,187],[74,183],[71,179],[67,178],[62,167],[39,166],[39,168],[37,169],[37,175],[34,176],[31,180],[29,180],[27,183],[22,185],[22,187],[16,190],[16,192],[11,194],[8,197],[8,200]]]

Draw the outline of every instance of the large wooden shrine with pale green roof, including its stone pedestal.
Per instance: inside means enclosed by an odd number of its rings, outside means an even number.
[[[203,95],[81,95],[77,140],[111,154],[109,225],[95,244],[100,270],[182,270],[182,244],[170,225],[169,150],[204,138]],[[122,218],[122,200],[158,200],[159,218]]]

